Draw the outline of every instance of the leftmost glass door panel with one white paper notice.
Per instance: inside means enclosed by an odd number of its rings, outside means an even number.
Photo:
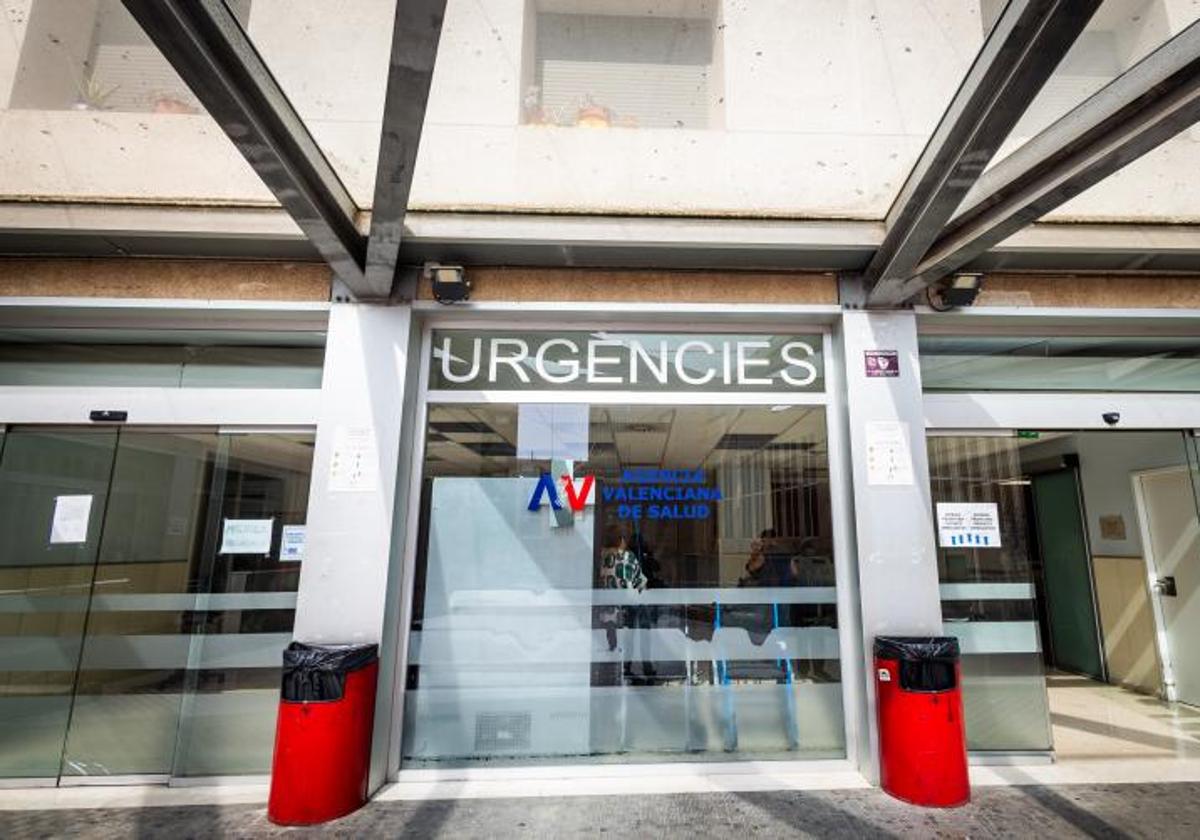
[[[0,776],[56,776],[115,430],[11,430],[0,452]]]

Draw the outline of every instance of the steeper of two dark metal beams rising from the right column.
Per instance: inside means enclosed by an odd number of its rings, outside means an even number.
[[[872,307],[904,284],[1100,0],[1009,0],[888,214],[866,270]]]

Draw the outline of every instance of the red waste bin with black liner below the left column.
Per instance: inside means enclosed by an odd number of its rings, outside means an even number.
[[[292,642],[283,652],[271,822],[311,826],[366,803],[378,674],[376,644]]]

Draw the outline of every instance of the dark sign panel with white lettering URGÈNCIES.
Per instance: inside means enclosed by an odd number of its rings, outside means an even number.
[[[436,330],[433,390],[822,391],[820,335]]]

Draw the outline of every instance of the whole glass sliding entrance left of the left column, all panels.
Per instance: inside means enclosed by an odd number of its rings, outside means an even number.
[[[0,774],[268,770],[311,462],[311,432],[8,431]]]

